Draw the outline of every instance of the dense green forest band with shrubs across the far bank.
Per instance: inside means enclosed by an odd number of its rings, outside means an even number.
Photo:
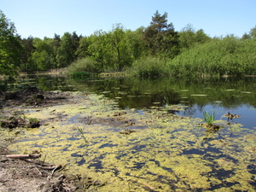
[[[14,76],[67,67],[67,73],[127,72],[158,75],[255,75],[256,26],[241,38],[210,38],[192,25],[177,32],[158,11],[135,31],[114,24],[88,37],[21,38],[0,10],[0,74]]]

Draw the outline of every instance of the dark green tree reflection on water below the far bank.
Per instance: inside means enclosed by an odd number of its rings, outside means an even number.
[[[255,79],[98,79],[73,80],[67,84],[78,90],[92,91],[114,99],[120,108],[149,108],[154,102],[182,103],[203,108],[207,104],[236,108],[241,104],[256,106]]]

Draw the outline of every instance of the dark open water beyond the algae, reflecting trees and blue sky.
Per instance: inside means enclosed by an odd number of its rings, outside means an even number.
[[[35,79],[34,79],[35,78]],[[29,78],[26,78],[29,79]],[[25,80],[26,81],[26,80]],[[203,112],[214,112],[222,119],[226,112],[236,113],[233,119],[244,127],[256,127],[256,78],[218,79],[65,79],[63,77],[32,76],[28,84],[42,90],[79,90],[104,95],[118,101],[119,108],[154,108],[178,104],[183,116],[203,119]]]

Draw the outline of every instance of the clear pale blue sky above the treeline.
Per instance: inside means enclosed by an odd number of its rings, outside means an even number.
[[[0,9],[22,38],[64,32],[90,36],[110,31],[115,23],[134,31],[147,27],[156,10],[168,14],[176,31],[191,24],[210,37],[241,38],[256,26],[256,0],[1,0]]]

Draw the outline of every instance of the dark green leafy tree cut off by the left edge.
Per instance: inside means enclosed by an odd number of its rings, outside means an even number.
[[[22,46],[15,33],[15,24],[0,10],[0,74],[15,75],[20,65]]]

